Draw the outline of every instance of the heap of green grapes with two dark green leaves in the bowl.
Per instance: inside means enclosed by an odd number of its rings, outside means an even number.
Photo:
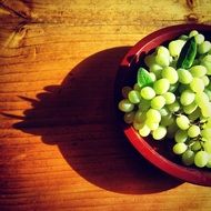
[[[144,58],[119,109],[141,137],[173,139],[185,165],[211,168],[211,42],[197,30]],[[167,139],[165,139],[167,140]]]

